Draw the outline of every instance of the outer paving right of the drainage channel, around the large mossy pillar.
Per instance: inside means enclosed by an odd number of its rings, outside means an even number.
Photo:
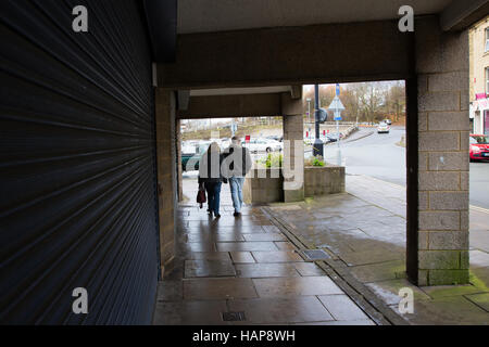
[[[347,177],[348,194],[271,209],[293,234],[324,248],[392,310],[401,287],[414,292],[413,324],[489,324],[489,214],[471,208],[471,284],[416,287],[405,279],[405,189],[365,176]]]

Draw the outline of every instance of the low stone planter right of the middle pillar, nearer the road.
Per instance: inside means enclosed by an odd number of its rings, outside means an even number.
[[[304,167],[304,196],[344,193],[344,166]]]

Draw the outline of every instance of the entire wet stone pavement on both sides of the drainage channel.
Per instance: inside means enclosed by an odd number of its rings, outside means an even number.
[[[405,188],[347,176],[347,191],[247,206],[236,219],[223,184],[215,220],[186,179],[175,269],[159,285],[154,323],[489,324],[488,210],[471,208],[471,284],[417,287],[405,279]],[[304,261],[303,248],[329,259]],[[413,290],[414,313],[399,312],[402,287]]]

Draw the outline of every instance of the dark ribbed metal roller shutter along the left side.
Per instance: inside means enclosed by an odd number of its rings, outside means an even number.
[[[88,9],[89,31],[72,29]],[[150,323],[154,95],[137,0],[0,1],[1,323]],[[88,291],[88,314],[72,292]]]

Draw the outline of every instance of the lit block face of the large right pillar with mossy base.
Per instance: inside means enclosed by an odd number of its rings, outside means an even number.
[[[416,22],[418,285],[468,283],[468,34]]]

